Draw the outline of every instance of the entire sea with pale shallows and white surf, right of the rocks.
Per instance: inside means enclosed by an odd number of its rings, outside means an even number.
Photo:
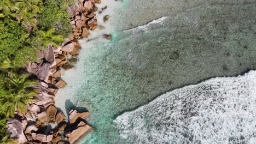
[[[91,113],[80,143],[255,141],[255,1],[106,5],[55,98]]]

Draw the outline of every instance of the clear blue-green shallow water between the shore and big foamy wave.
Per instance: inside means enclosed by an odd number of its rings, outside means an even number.
[[[83,45],[74,79],[68,80],[75,83],[68,99],[91,112],[88,123],[95,128],[81,143],[132,143],[113,123],[122,113],[172,89],[256,68],[253,1],[156,2],[155,10],[166,4],[152,13],[152,3],[126,1],[110,19],[113,40]],[[136,4],[143,5],[141,11]],[[146,28],[131,29],[162,16]]]

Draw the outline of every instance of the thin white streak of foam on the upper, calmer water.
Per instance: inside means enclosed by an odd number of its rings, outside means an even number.
[[[129,34],[137,34],[137,33],[141,33],[141,32],[147,32],[147,31],[149,31],[150,29],[153,29],[153,28],[163,27],[165,25],[165,19],[166,18],[167,18],[166,16],[163,16],[163,17],[160,17],[159,19],[150,21],[146,25],[138,26],[138,27],[135,27],[135,28],[132,28],[132,29],[127,29],[123,32],[129,33]]]

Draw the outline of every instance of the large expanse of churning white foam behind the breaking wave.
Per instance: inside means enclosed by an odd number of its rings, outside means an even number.
[[[162,94],[115,119],[126,143],[256,143],[256,71]]]

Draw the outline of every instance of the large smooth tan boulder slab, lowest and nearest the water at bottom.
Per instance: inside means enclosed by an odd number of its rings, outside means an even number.
[[[73,130],[72,133],[68,136],[68,141],[71,144],[77,142],[80,139],[80,137],[89,133],[91,129],[92,128],[88,124],[82,127],[78,127],[77,129]]]

